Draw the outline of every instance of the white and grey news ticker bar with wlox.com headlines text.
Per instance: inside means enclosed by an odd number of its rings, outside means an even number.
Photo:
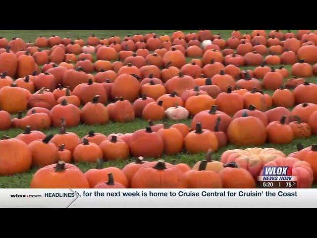
[[[317,189],[0,189],[0,208],[317,208]]]

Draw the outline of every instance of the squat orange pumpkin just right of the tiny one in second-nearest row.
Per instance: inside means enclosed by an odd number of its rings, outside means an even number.
[[[99,158],[103,157],[103,152],[98,145],[90,143],[86,138],[83,143],[78,144],[73,151],[75,162],[95,163]]]

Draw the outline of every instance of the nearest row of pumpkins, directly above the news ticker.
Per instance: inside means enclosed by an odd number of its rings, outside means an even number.
[[[170,164],[163,160],[147,162],[138,157],[122,170],[97,168],[82,173],[75,165],[59,161],[39,169],[31,188],[256,188],[256,178],[263,175],[263,166],[290,166],[297,177],[298,188],[310,188],[317,179],[317,146],[285,156],[273,148],[228,150],[220,161],[198,161],[193,168],[187,164]],[[312,170],[313,168],[313,170]]]

